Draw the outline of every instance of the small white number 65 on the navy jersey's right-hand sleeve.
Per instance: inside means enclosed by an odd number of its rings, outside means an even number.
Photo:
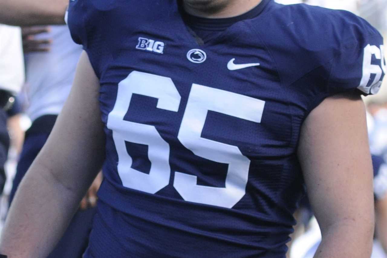
[[[380,60],[380,64],[372,64],[372,57]],[[363,57],[363,76],[361,77],[358,89],[367,94],[376,94],[380,86],[382,85],[382,79],[386,73],[386,60],[384,57],[384,46],[380,45],[366,45],[364,48]],[[370,83],[371,75],[374,74],[375,78]]]

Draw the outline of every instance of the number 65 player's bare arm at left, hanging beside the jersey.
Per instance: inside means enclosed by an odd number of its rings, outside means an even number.
[[[62,113],[12,202],[0,243],[0,253],[9,258],[46,257],[101,169],[98,86],[83,53]]]

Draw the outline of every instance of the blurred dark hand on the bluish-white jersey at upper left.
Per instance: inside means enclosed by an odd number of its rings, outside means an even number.
[[[51,39],[35,39],[36,34],[50,32],[49,26],[22,27],[24,53],[50,51]]]

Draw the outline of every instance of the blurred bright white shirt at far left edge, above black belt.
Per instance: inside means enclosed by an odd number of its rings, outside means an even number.
[[[24,83],[24,60],[19,27],[0,24],[0,89],[18,93]]]

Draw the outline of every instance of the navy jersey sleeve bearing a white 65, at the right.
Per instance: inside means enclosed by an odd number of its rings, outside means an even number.
[[[332,65],[328,81],[331,94],[357,89],[376,94],[386,70],[383,38],[368,22],[346,11],[332,12]]]

